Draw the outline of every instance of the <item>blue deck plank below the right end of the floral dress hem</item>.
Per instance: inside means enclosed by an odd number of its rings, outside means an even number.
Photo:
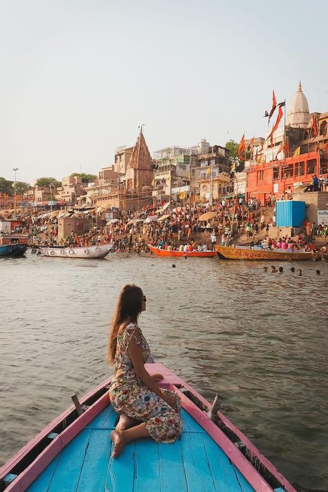
[[[184,423],[183,420],[183,427]],[[173,490],[174,492],[188,492],[180,439],[176,439],[174,443],[169,445],[160,444],[158,450],[161,492]]]

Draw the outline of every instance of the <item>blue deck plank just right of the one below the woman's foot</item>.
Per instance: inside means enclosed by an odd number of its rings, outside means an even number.
[[[158,443],[149,439],[136,441],[135,460],[134,492],[160,491]]]

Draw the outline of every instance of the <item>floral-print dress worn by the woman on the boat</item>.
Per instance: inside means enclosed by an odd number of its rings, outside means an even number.
[[[174,408],[170,407],[138,378],[128,350],[132,338],[140,346],[144,361],[150,354],[147,340],[138,325],[131,322],[122,329],[117,338],[115,371],[109,390],[111,404],[119,414],[145,422],[155,441],[173,442],[182,431],[181,400],[174,392],[162,390],[173,399]]]

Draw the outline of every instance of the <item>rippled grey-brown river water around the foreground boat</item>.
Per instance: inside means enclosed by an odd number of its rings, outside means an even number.
[[[176,268],[172,268],[172,264]],[[110,374],[121,287],[147,295],[152,354],[222,411],[301,490],[328,490],[328,264],[111,254],[1,259],[0,463]],[[280,266],[280,264],[276,264]],[[321,275],[316,275],[320,268]]]

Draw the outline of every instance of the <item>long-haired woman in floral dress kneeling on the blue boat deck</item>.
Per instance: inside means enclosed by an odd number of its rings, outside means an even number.
[[[178,395],[161,390],[157,383],[163,376],[150,376],[145,369],[150,350],[138,327],[138,317],[146,302],[140,287],[123,287],[109,334],[107,358],[110,364],[115,363],[109,398],[120,415],[111,432],[114,458],[134,439],[152,437],[156,442],[170,443],[182,431]]]

